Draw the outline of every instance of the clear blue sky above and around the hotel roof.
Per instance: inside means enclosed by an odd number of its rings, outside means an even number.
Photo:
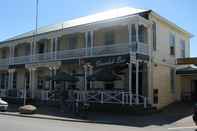
[[[39,26],[131,6],[152,9],[196,37],[191,39],[191,56],[197,56],[197,0],[39,0]],[[2,0],[0,41],[35,27],[35,0]]]

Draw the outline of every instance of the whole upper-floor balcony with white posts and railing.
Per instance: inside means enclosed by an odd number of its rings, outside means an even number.
[[[149,55],[149,27],[119,24],[0,48],[0,67],[121,54]],[[11,56],[11,57],[10,57]]]

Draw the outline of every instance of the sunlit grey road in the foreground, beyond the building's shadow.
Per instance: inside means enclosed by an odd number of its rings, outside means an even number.
[[[169,126],[133,127],[0,115],[1,131],[166,131],[168,128]]]

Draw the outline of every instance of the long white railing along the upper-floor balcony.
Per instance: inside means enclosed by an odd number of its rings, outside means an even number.
[[[56,52],[48,52],[42,54],[35,54],[29,56],[12,57],[7,59],[0,59],[0,67],[16,64],[28,64],[37,62],[49,62],[56,60],[66,60],[73,58],[83,57],[95,57],[95,56],[106,56],[106,55],[118,55],[126,53],[139,53],[148,55],[148,45],[143,43],[127,44],[113,44],[98,46],[93,48],[79,48],[72,50],[62,50]]]

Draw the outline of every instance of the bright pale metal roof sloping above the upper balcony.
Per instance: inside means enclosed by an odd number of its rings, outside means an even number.
[[[79,26],[79,25],[84,25],[84,24],[90,24],[90,23],[104,21],[104,20],[113,19],[113,18],[118,18],[118,17],[122,17],[122,16],[133,15],[133,14],[142,13],[142,12],[145,12],[145,11],[147,11],[147,10],[130,8],[130,7],[113,9],[113,10],[97,13],[97,14],[94,14],[94,15],[89,15],[89,16],[80,17],[80,18],[77,18],[77,19],[65,21],[65,22],[62,22],[62,23],[54,24],[54,25],[41,27],[41,28],[38,29],[37,34],[42,34],[42,33],[46,33],[46,32],[61,30],[61,29],[70,28],[70,27]],[[12,38],[7,39],[5,41],[21,39],[21,38],[24,38],[24,37],[33,36],[33,34],[34,34],[34,31],[30,31],[30,32],[12,37]]]

